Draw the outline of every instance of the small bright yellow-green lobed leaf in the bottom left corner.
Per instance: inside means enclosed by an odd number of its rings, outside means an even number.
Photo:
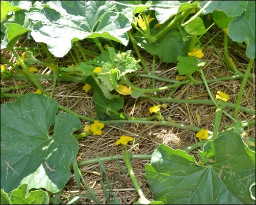
[[[4,191],[3,191],[4,192]],[[43,190],[34,190],[29,192],[28,185],[22,184],[17,189],[10,193],[10,197],[4,192],[5,200],[2,200],[1,190],[1,204],[48,204],[49,197],[47,192]],[[9,203],[5,203],[5,202]]]

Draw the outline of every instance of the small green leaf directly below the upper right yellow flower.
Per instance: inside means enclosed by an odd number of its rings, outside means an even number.
[[[181,75],[184,75],[187,73],[192,74],[196,70],[199,70],[201,66],[203,66],[203,64],[201,64],[200,59],[194,56],[192,57],[178,56],[177,60],[179,62],[177,63],[176,69]]]

